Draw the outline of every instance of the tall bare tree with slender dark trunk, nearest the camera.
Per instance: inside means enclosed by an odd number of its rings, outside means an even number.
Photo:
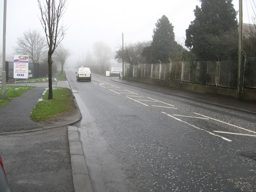
[[[65,12],[67,0],[38,0],[38,7],[41,12],[41,24],[46,34],[48,50],[48,78],[49,94],[48,100],[53,99],[52,94],[52,54],[63,40],[66,27],[60,24],[60,20]]]

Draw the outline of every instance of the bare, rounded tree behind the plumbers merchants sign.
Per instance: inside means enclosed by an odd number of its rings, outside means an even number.
[[[46,54],[45,38],[36,29],[28,30],[17,38],[17,46],[13,48],[16,54],[28,55],[32,63],[40,63]]]

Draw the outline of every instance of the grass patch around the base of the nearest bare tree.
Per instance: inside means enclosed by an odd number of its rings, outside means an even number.
[[[52,88],[53,99],[48,100],[48,90],[43,94],[34,107],[31,118],[34,121],[45,121],[55,115],[63,114],[74,109],[74,101],[72,100],[72,92],[68,88],[54,87]]]

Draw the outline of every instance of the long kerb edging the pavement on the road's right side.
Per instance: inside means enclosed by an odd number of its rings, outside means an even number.
[[[172,93],[168,93],[168,92],[164,92],[164,91],[160,91],[160,90],[154,90],[154,89],[150,89],[150,88],[146,88],[146,87],[142,87],[142,86],[138,86],[138,85],[134,85],[134,84],[129,84],[129,83],[125,83],[125,82],[116,81],[116,80],[113,80],[113,79],[112,79],[112,81],[127,84],[127,85],[132,85],[132,86],[136,86],[136,87],[140,87],[140,88],[144,88],[144,89],[148,89],[148,90],[152,90],[152,91],[161,92],[161,93],[164,93],[164,94],[179,96],[179,97],[182,97],[182,98],[185,98],[185,99],[191,99],[191,100],[194,100],[194,101],[204,102],[204,103],[207,103],[207,104],[212,104],[212,105],[221,106],[221,107],[225,107],[225,108],[230,108],[230,109],[234,109],[234,110],[238,110],[238,111],[242,111],[242,112],[256,114],[256,112],[252,112],[252,111],[244,110],[244,109],[240,109],[240,108],[235,108],[235,107],[232,107],[232,106],[226,106],[226,105],[222,105],[222,104],[218,104],[218,103],[214,103],[214,102],[209,102],[209,101],[204,101],[204,100],[195,99],[195,98],[191,98],[191,97],[181,96],[181,95],[172,94]]]

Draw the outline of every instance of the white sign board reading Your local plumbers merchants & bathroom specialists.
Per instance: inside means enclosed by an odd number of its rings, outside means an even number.
[[[28,79],[28,55],[14,55],[14,79]]]

